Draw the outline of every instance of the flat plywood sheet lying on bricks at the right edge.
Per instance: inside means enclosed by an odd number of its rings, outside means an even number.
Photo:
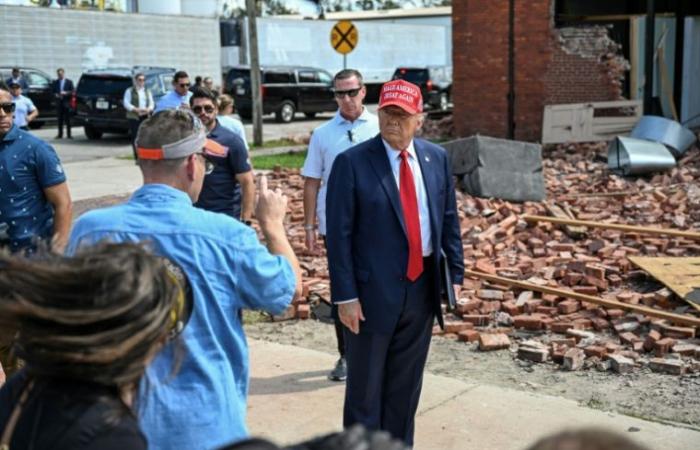
[[[700,257],[630,256],[629,260],[700,310]]]

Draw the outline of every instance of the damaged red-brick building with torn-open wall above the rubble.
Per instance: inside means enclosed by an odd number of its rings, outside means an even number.
[[[539,141],[546,105],[644,100],[645,3],[454,2],[456,134]],[[700,126],[700,2],[649,3],[654,65],[645,114]]]

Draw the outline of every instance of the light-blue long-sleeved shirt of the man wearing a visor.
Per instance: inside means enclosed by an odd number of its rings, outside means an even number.
[[[141,382],[138,414],[148,448],[212,449],[245,438],[248,346],[240,311],[283,311],[295,288],[289,262],[271,255],[253,229],[195,208],[186,193],[162,184],[83,215],[68,252],[107,239],[149,242],[183,268],[194,291],[179,371],[170,378],[178,356],[168,345]]]

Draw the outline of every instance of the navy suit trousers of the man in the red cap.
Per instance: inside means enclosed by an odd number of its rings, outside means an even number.
[[[427,267],[427,266],[424,266]],[[432,336],[434,275],[407,284],[403,310],[390,335],[345,329],[348,378],[343,426],[361,423],[413,445],[423,369]]]

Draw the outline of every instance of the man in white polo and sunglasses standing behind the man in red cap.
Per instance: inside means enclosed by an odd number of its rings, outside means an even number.
[[[311,253],[318,252],[318,234],[324,241],[326,236],[326,185],[333,167],[333,161],[343,151],[375,137],[379,133],[377,116],[362,105],[367,94],[362,84],[362,74],[354,69],[338,72],[333,78],[335,101],[338,111],[335,116],[316,128],[311,135],[309,150],[301,174],[304,180],[304,230],[306,248]],[[328,375],[333,381],[344,381],[347,374],[345,363],[345,342],[343,328],[337,311],[333,311],[336,338],[340,358]]]

